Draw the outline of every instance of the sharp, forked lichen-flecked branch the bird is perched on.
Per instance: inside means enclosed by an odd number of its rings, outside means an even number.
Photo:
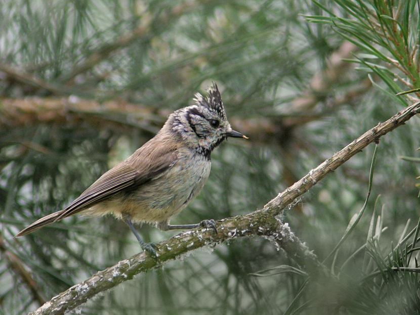
[[[316,256],[306,245],[290,231],[288,224],[280,222],[275,216],[281,214],[285,207],[315,186],[327,174],[343,165],[369,144],[379,142],[382,136],[403,125],[419,112],[420,101],[400,111],[387,121],[377,124],[351,144],[325,160],[317,168],[311,170],[296,184],[272,199],[263,209],[218,221],[217,234],[213,230],[205,229],[191,230],[178,234],[158,244],[159,251],[156,258],[142,252],[129,259],[121,260],[118,264],[98,272],[86,281],[74,285],[67,291],[57,295],[30,314],[64,314],[96,294],[130,280],[135,275],[159,266],[167,260],[176,259],[189,251],[210,244],[220,244],[243,236],[267,238],[286,251],[308,274],[316,271],[327,275],[326,268],[317,260]]]

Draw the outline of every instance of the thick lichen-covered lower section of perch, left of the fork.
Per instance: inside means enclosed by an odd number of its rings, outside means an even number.
[[[64,314],[96,294],[115,287],[121,282],[130,280],[141,272],[206,245],[222,243],[237,237],[255,235],[262,235],[274,240],[281,234],[281,232],[277,231],[278,221],[275,218],[266,218],[262,213],[250,213],[225,219],[219,221],[217,226],[217,234],[214,230],[196,229],[160,242],[157,244],[159,250],[156,258],[148,253],[141,252],[128,259],[121,260],[116,265],[100,271],[91,278],[60,293],[30,314]]]

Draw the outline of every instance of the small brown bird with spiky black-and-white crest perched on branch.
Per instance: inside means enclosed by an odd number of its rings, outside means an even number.
[[[232,129],[215,82],[208,96],[195,94],[195,104],[170,114],[156,135],[100,176],[66,208],[46,215],[15,237],[52,222],[81,213],[113,215],[128,224],[144,251],[156,255],[157,246],[146,243],[133,223],[154,224],[162,231],[213,228],[214,220],[171,225],[170,220],[193,200],[207,181],[211,153],[228,137],[248,139]]]

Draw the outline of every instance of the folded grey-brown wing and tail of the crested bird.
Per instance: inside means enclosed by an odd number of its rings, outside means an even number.
[[[33,222],[20,231],[16,237],[26,235],[47,224],[78,213],[115,193],[143,185],[174,165],[178,156],[176,146],[171,148],[160,146],[159,150],[147,150],[148,145],[152,145],[152,143],[145,144],[136,152],[137,154],[133,154],[127,160],[104,173],[68,207]],[[139,165],[139,160],[142,161],[141,165],[144,166],[142,169],[135,168]]]

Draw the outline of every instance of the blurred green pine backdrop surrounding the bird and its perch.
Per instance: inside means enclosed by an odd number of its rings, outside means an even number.
[[[174,224],[262,208],[409,105],[416,94],[395,94],[419,87],[418,10],[411,0],[1,2],[0,313],[25,314],[140,251],[111,217],[13,236],[68,205],[212,81],[249,140],[214,151],[208,182]],[[420,313],[419,128],[414,117],[381,139],[364,214],[324,262],[337,283],[311,281],[267,240],[244,238],[166,263],[76,313]],[[373,149],[282,218],[320,261],[362,209]],[[177,233],[138,230],[153,242]]]

